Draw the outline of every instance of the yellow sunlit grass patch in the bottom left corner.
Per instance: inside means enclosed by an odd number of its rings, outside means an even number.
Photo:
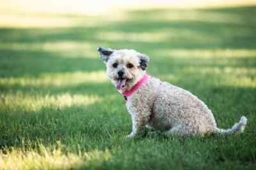
[[[51,149],[41,144],[36,150],[12,148],[0,153],[0,169],[77,169],[109,159],[111,153],[108,149],[65,153],[61,146]]]

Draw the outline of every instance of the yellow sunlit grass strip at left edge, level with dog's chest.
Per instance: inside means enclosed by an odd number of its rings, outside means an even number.
[[[58,95],[24,94],[22,92],[1,94],[0,110],[11,113],[28,113],[42,108],[67,108],[70,106],[88,106],[102,100],[99,96],[86,96],[68,93]]]

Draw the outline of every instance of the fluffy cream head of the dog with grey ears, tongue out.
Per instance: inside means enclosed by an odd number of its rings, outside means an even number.
[[[131,88],[142,78],[148,66],[148,56],[135,50],[112,50],[98,48],[100,57],[107,66],[107,76],[116,86],[124,91]]]

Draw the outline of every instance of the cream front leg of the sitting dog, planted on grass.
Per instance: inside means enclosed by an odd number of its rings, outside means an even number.
[[[140,132],[143,127],[148,123],[150,113],[136,113],[132,114],[132,132],[127,135],[127,138],[131,138],[136,136],[138,132]]]

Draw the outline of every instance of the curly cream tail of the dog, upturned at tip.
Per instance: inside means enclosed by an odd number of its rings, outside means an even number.
[[[236,124],[233,125],[232,129],[217,129],[217,132],[221,134],[240,134],[241,132],[244,131],[244,127],[246,125],[247,118],[246,117],[241,117],[240,121]]]

